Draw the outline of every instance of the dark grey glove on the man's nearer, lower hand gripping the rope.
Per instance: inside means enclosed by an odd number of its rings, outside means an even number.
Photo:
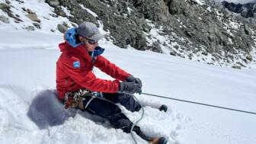
[[[120,92],[126,92],[129,94],[142,93],[142,85],[135,82],[120,82]]]

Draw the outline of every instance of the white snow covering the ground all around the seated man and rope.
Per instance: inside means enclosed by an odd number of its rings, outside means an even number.
[[[49,16],[53,8],[43,1],[31,0],[24,4],[11,1],[11,5],[18,9],[12,10],[24,22],[16,24],[9,18],[11,24],[0,23],[0,142],[133,143],[130,135],[114,130],[100,117],[81,110],[64,110],[56,100],[56,60],[60,55],[58,44],[63,40],[62,34],[50,29],[63,21],[69,25],[71,22]],[[24,30],[33,21],[21,12],[21,7],[37,12],[42,24],[40,30]],[[0,10],[0,14],[5,12]],[[103,30],[101,21],[98,23],[101,32],[109,34]],[[153,28],[150,34],[154,37],[152,43],[170,38],[160,35],[161,28]],[[105,39],[99,43],[106,49],[104,56],[110,62],[142,79],[145,93],[256,112],[255,62],[251,63],[251,69],[238,70],[133,48],[124,50]],[[112,79],[99,69],[94,73],[99,78]],[[168,137],[168,143],[254,144],[256,141],[255,115],[145,94],[136,94],[136,98],[146,105],[139,126],[149,136]],[[155,109],[160,104],[168,105],[167,113]],[[132,113],[120,107],[133,121],[142,114],[142,110]],[[136,140],[146,143],[138,136]]]

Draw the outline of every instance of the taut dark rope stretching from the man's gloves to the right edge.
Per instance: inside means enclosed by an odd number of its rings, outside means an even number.
[[[255,114],[256,115],[256,113],[251,112],[251,111],[237,110],[237,109],[234,109],[234,108],[220,107],[220,106],[216,106],[216,105],[212,105],[212,104],[203,104],[203,103],[194,102],[194,101],[186,101],[186,100],[181,100],[181,99],[178,99],[178,98],[168,98],[168,97],[164,97],[164,96],[156,95],[156,94],[148,94],[148,93],[143,93],[143,92],[142,92],[142,94],[146,94],[146,95],[153,96],[153,97],[158,97],[158,98],[170,99],[170,100],[174,100],[174,101],[182,101],[182,102],[186,102],[186,103],[190,103],[190,104],[199,104],[199,105],[204,105],[204,106],[207,106],[207,107],[216,107],[216,108],[220,108],[220,109],[233,110],[233,111],[242,112],[242,113],[246,113],[246,114]]]

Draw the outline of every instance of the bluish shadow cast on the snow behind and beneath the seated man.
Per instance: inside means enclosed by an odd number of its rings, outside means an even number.
[[[101,125],[105,122],[101,117],[82,110],[73,108],[66,110],[63,102],[59,100],[56,90],[44,90],[37,94],[30,104],[27,116],[42,130],[48,126],[62,125],[69,117],[75,117],[77,113],[86,119],[99,122]]]

